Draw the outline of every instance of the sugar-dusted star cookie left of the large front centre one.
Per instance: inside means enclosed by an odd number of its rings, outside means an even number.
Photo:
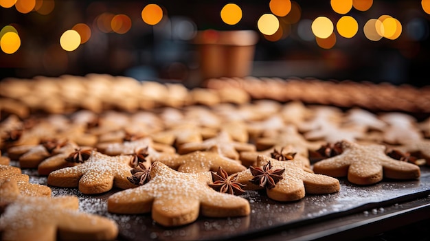
[[[108,156],[93,150],[87,161],[73,167],[61,168],[49,173],[47,184],[56,187],[79,187],[83,194],[100,194],[112,189],[136,187],[130,183],[131,157]]]

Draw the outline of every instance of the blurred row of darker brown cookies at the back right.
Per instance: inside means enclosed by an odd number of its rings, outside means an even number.
[[[359,106],[372,111],[430,112],[430,89],[408,84],[375,83],[317,78],[213,78],[206,80],[209,89],[245,90],[252,99],[341,107]]]

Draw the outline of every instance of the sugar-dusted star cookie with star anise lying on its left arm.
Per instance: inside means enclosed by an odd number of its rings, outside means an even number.
[[[269,198],[282,202],[340,190],[339,180],[309,172],[302,161],[278,161],[266,156],[258,156],[256,168],[238,172],[234,181],[245,184],[244,190],[266,190]]]

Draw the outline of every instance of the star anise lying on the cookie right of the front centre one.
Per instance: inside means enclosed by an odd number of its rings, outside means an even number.
[[[266,165],[263,165],[262,168],[249,166],[249,169],[251,170],[251,174],[254,176],[254,178],[249,181],[260,185],[260,187],[267,187],[268,189],[275,187],[276,183],[283,179],[282,174],[285,171],[285,168],[273,169],[270,161]]]

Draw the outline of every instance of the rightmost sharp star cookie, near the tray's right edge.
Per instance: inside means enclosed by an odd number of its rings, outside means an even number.
[[[315,163],[313,171],[334,177],[348,176],[348,181],[357,185],[372,185],[383,178],[408,180],[420,177],[418,165],[388,157],[383,145],[360,145],[343,140],[341,148],[341,154]]]

